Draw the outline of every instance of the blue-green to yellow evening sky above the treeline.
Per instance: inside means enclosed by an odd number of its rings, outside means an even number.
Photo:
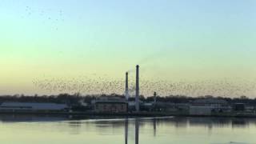
[[[0,94],[256,97],[254,0],[1,0]]]

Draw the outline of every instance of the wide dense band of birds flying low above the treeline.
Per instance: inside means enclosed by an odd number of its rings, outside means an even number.
[[[34,86],[40,90],[54,93],[81,94],[124,94],[125,78],[100,77],[97,74],[77,78],[35,78]],[[135,94],[134,78],[130,78],[130,95]],[[159,95],[222,97],[250,96],[256,92],[256,81],[246,79],[201,80],[174,82],[168,80],[140,80],[140,94],[152,96],[154,91]]]

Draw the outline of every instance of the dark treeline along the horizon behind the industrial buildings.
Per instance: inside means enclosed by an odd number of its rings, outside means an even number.
[[[54,103],[66,103],[68,105],[80,105],[82,102],[90,104],[90,102],[98,97],[122,97],[120,94],[95,94],[95,95],[81,95],[81,94],[58,94],[58,95],[42,95],[38,96],[26,96],[26,95],[2,95],[0,96],[0,102],[54,102]],[[170,96],[158,96],[158,102],[173,102],[173,103],[189,103],[196,99],[202,98],[218,98],[226,100],[226,102],[233,103],[246,103],[248,105],[256,105],[256,98],[247,98],[246,96],[241,96],[239,98],[224,98],[224,97],[213,97],[213,96],[201,96],[201,97],[188,97],[183,95],[170,95]],[[129,98],[130,101],[134,101],[134,98]],[[140,96],[142,102],[153,102],[154,97],[144,97]]]

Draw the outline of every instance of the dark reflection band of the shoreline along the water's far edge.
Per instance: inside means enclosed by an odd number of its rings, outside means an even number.
[[[106,118],[106,117],[80,117],[70,118],[69,116],[49,116],[49,115],[24,115],[24,114],[1,114],[1,122],[69,122],[74,127],[81,126],[86,122],[92,122],[100,129],[102,127],[125,127],[125,134],[128,133],[128,126],[140,126],[146,122],[151,122],[153,126],[154,136],[156,135],[157,125],[164,123],[165,125],[175,127],[187,126],[206,126],[206,127],[246,127],[250,123],[256,124],[256,118],[199,118],[199,117],[159,117],[159,118]],[[129,123],[130,122],[130,123]]]

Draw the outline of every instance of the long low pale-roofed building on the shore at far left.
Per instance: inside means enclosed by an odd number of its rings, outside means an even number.
[[[65,111],[66,104],[40,102],[2,102],[0,111]]]

